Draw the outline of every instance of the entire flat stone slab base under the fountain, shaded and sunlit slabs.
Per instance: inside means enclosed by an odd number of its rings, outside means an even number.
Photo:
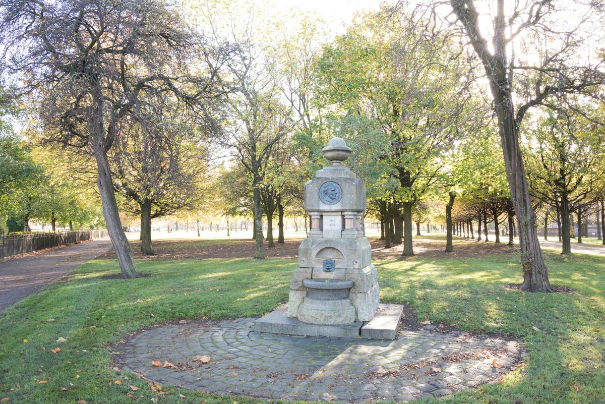
[[[307,324],[287,316],[287,304],[273,310],[254,322],[257,333],[326,336],[341,338],[395,339],[404,307],[399,304],[381,304],[369,322],[345,325]]]

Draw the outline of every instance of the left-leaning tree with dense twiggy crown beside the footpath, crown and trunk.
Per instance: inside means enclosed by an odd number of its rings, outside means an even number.
[[[214,96],[215,68],[191,63],[200,41],[159,0],[7,0],[0,5],[2,71],[24,80],[47,142],[90,154],[123,278],[138,276],[116,204],[108,152],[126,117],[154,94],[187,105]],[[27,46],[23,46],[27,44]],[[205,56],[205,57],[204,57]],[[206,51],[201,62],[214,62]],[[204,70],[193,79],[189,66]],[[191,82],[194,86],[186,88]],[[191,93],[187,90],[194,89]]]

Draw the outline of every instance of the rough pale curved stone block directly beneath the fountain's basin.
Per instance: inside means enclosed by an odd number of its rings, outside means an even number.
[[[298,308],[298,319],[309,324],[353,324],[355,307],[349,299],[320,300],[307,296]]]

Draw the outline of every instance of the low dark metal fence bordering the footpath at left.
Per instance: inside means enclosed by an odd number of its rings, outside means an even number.
[[[22,233],[2,237],[0,246],[0,259],[13,255],[30,253],[50,247],[65,246],[80,241],[103,238],[107,230],[79,230],[71,232],[51,233]]]

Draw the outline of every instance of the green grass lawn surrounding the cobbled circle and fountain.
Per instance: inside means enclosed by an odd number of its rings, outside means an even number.
[[[472,243],[472,242],[471,242]],[[465,248],[459,241],[455,248]],[[522,340],[525,365],[499,383],[425,403],[605,402],[605,258],[548,253],[551,282],[574,293],[529,294],[518,258],[418,256],[376,262],[383,302],[408,302],[420,319]],[[113,370],[110,351],[128,333],[166,321],[258,316],[287,300],[293,259],[138,261],[139,279],[112,278],[97,259],[0,314],[0,400],[7,403],[259,403],[163,386],[158,396],[132,374]],[[535,328],[534,328],[535,327]],[[56,342],[59,337],[66,342]],[[58,353],[52,353],[54,348]],[[121,384],[116,383],[116,380]],[[62,391],[62,388],[67,391]],[[185,397],[181,397],[185,396]],[[268,402],[268,400],[267,400]],[[2,402],[4,404],[4,402]]]

